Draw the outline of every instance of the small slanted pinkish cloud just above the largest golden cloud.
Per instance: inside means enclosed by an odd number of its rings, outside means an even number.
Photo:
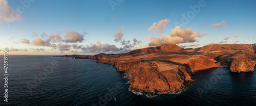
[[[159,33],[163,33],[164,30],[164,26],[166,26],[168,24],[168,22],[170,21],[170,19],[164,19],[158,22],[153,23],[152,26],[150,26],[150,28],[148,28],[148,31],[154,31],[154,32],[159,32]]]

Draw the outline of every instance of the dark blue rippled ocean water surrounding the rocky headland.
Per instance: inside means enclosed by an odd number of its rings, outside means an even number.
[[[0,105],[256,105],[253,72],[200,71],[187,91],[148,98],[129,92],[125,73],[112,65],[53,56],[9,56],[5,102],[0,58]]]

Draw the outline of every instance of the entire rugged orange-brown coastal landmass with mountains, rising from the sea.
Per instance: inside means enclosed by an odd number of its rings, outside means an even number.
[[[254,71],[256,44],[212,44],[184,49],[175,44],[135,49],[123,54],[97,54],[75,57],[97,59],[126,72],[130,91],[149,96],[177,93],[192,82],[191,74],[214,67],[227,67],[230,72]]]

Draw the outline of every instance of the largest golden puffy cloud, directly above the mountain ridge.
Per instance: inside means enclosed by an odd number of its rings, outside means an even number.
[[[172,33],[169,36],[160,36],[160,38],[148,37],[151,40],[148,43],[149,46],[159,46],[163,44],[179,44],[179,43],[188,43],[188,42],[196,42],[196,37],[203,37],[207,34],[199,34],[198,32],[194,32],[192,29],[181,30],[180,26],[176,26]]]

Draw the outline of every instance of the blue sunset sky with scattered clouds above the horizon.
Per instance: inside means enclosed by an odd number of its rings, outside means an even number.
[[[256,1],[0,0],[0,53],[94,55],[256,43]]]

